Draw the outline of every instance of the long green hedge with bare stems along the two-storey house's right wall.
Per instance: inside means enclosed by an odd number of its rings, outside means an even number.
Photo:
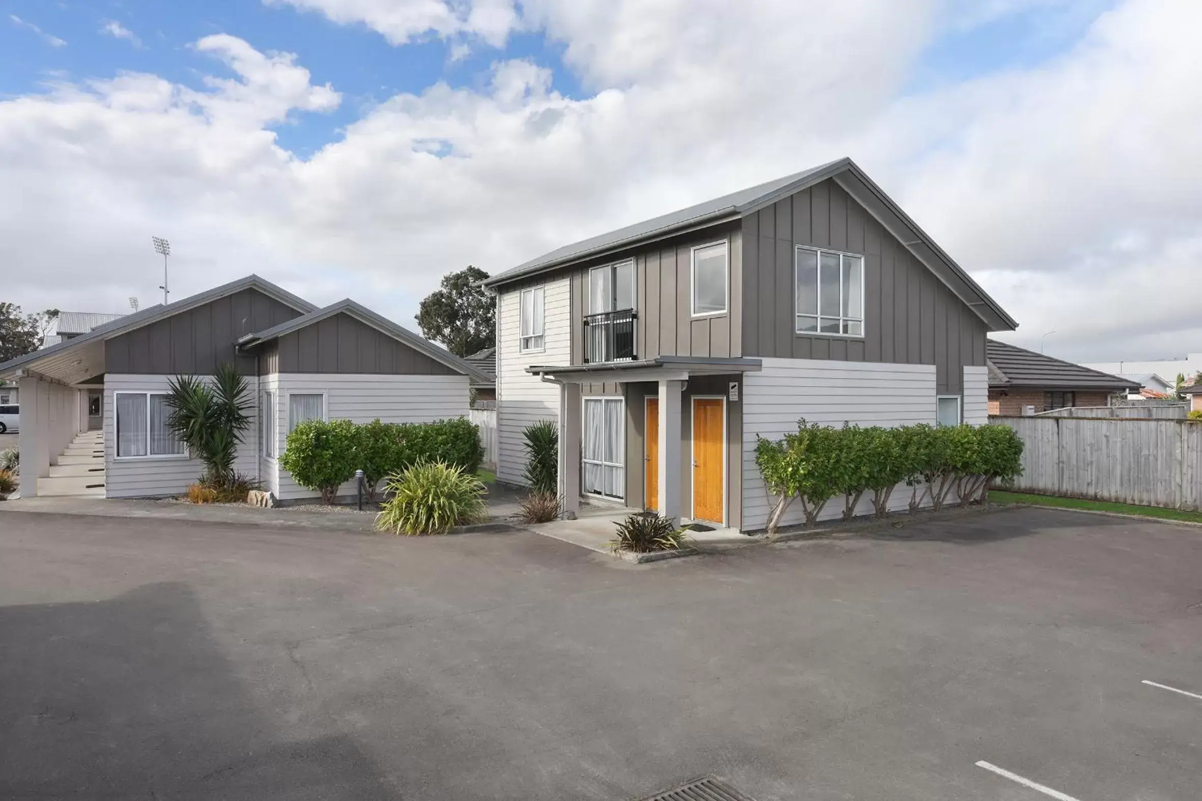
[[[885,518],[889,496],[903,482],[911,488],[910,512],[928,498],[938,512],[953,489],[960,506],[984,502],[990,482],[1011,482],[1022,473],[1022,455],[1023,441],[1005,425],[832,429],[798,420],[796,432],[756,443],[756,465],[776,496],[769,534],[795,500],[805,524],[814,525],[831,498],[844,497],[847,520],[870,491],[876,516]]]

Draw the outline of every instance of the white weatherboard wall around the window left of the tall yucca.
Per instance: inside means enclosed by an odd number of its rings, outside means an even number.
[[[118,391],[167,391],[172,376],[105,376],[105,497],[137,498],[165,495],[183,495],[188,485],[204,472],[200,459],[186,454],[180,456],[138,456],[133,459],[117,458],[117,401]],[[212,379],[212,376],[200,376]],[[250,397],[257,397],[258,379],[246,377],[246,391]],[[258,404],[252,404],[250,414],[254,417],[250,429],[238,447],[233,468],[246,476],[258,476]]]

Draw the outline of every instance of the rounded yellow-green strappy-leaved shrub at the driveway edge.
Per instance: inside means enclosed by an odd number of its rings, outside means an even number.
[[[376,515],[376,528],[397,534],[439,534],[487,516],[484,484],[463,468],[423,462],[389,476],[389,498]]]

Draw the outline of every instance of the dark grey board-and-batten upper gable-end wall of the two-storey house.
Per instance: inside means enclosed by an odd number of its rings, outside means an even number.
[[[864,337],[795,333],[797,245],[864,256]],[[743,355],[927,364],[940,393],[984,366],[986,324],[834,180],[743,221]]]

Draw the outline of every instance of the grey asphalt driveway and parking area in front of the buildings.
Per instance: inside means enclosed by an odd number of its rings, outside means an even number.
[[[0,513],[0,797],[1196,799],[1202,530],[1037,509],[631,566]],[[984,761],[1011,777],[976,765]],[[1017,777],[1017,778],[1014,778]]]

